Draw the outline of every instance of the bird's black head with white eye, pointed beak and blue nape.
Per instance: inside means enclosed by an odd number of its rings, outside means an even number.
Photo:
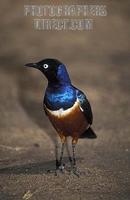
[[[37,63],[28,63],[25,66],[39,69],[49,83],[70,83],[66,67],[57,59],[47,58]]]

